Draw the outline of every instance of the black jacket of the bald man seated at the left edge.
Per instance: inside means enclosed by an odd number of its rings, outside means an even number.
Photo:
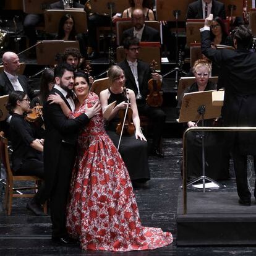
[[[25,75],[19,75],[18,80],[23,88],[23,91],[28,95],[30,99],[32,99],[34,93],[28,85],[27,77],[25,77]],[[2,72],[0,74],[0,96],[10,94],[12,91],[14,91],[14,87],[12,86],[11,81],[8,79],[6,73]]]

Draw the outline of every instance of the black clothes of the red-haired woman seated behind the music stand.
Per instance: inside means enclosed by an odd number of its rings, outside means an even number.
[[[208,82],[205,91],[216,90],[216,85]],[[184,93],[198,92],[197,83],[193,83]],[[178,103],[181,108],[182,98]],[[194,120],[191,120],[194,121]],[[197,126],[202,126],[198,122]],[[214,119],[205,120],[204,126],[220,126]],[[205,132],[205,175],[214,180],[229,178],[229,150],[223,132]],[[202,132],[187,134],[187,177],[193,179],[202,176]]]

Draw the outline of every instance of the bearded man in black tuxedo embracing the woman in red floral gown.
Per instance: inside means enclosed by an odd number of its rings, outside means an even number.
[[[51,94],[58,93],[74,111],[72,98],[74,87],[73,67],[61,64],[54,69],[55,85]],[[96,104],[75,119],[67,119],[57,104],[46,101],[43,107],[45,119],[44,167],[45,188],[50,198],[51,221],[53,223],[52,240],[58,244],[73,244],[66,231],[66,203],[69,194],[70,178],[74,166],[77,135],[89,119],[100,111]]]

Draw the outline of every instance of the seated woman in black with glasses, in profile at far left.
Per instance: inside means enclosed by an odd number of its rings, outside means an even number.
[[[30,100],[25,92],[13,91],[6,105],[12,114],[10,134],[12,142],[12,169],[17,175],[32,175],[44,179],[43,140],[36,139],[36,130],[24,119],[30,108]],[[45,203],[45,186],[41,185],[27,208],[37,216],[45,216],[41,205]]]

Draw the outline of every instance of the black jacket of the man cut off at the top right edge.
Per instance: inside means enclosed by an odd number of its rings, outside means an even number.
[[[221,17],[221,19],[226,19],[226,11],[224,4],[222,2],[212,0],[211,13],[213,17]],[[197,0],[189,4],[187,9],[187,19],[203,19],[203,8],[202,0]]]

